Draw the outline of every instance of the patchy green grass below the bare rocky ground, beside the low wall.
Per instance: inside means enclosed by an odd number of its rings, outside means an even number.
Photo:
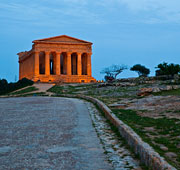
[[[128,124],[141,138],[149,143],[161,156],[176,168],[180,169],[180,121],[178,119],[167,118],[149,118],[136,114],[133,110],[112,109],[116,116],[124,123]],[[147,131],[145,127],[152,127],[153,131]],[[172,161],[169,159],[161,145],[168,148],[168,152],[177,154],[177,159]]]

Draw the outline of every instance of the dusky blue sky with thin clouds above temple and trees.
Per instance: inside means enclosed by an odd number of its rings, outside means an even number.
[[[0,79],[18,77],[18,52],[69,35],[93,42],[93,76],[112,64],[180,64],[180,0],[0,0]],[[134,77],[124,71],[120,77]]]

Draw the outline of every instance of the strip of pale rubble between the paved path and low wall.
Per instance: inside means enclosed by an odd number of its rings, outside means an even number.
[[[87,103],[87,102],[86,102]],[[97,135],[103,145],[108,161],[115,170],[141,170],[140,162],[133,158],[132,153],[125,148],[123,141],[117,138],[109,124],[91,103],[87,103],[88,110],[96,129]]]

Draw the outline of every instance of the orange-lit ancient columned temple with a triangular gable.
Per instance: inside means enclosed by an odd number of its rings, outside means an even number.
[[[92,43],[61,35],[33,41],[30,51],[20,52],[19,79],[34,82],[89,83]]]

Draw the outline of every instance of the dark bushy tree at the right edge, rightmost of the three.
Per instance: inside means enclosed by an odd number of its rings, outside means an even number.
[[[179,64],[168,64],[166,62],[159,64],[157,67],[155,67],[156,70],[156,76],[162,76],[162,75],[172,75],[180,73],[180,65]]]

